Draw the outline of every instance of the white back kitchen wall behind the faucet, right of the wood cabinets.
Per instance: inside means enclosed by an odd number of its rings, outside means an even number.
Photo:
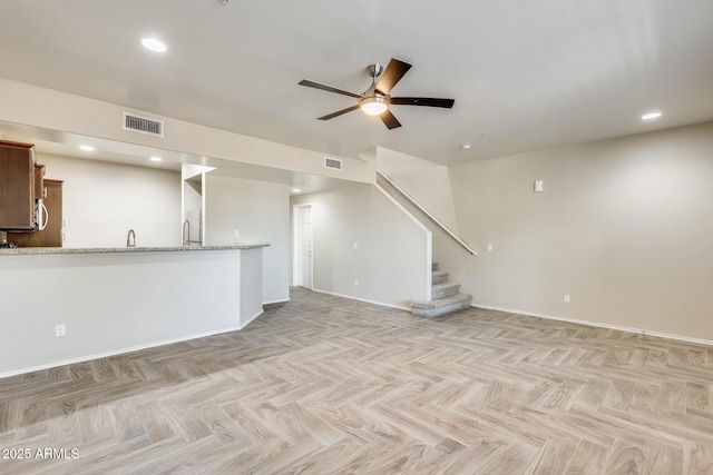
[[[65,247],[180,246],[180,174],[38,154],[46,178],[65,180]]]

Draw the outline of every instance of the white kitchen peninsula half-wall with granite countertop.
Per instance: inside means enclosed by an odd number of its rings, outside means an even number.
[[[0,249],[0,377],[241,329],[266,246]]]

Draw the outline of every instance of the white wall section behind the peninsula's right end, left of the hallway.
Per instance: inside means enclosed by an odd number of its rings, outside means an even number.
[[[289,300],[289,186],[211,172],[204,194],[206,245],[270,244],[263,248],[263,299]]]

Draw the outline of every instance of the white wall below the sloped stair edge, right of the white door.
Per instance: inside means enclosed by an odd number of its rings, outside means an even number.
[[[292,205],[312,206],[315,290],[400,308],[427,298],[431,235],[377,187],[293,196]]]

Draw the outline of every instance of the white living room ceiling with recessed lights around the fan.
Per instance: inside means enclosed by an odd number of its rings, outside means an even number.
[[[455,165],[713,119],[711,1],[2,0],[0,44],[8,79],[342,157]],[[354,99],[300,80],[362,92],[392,57],[413,65],[393,96],[453,109],[315,120]]]

